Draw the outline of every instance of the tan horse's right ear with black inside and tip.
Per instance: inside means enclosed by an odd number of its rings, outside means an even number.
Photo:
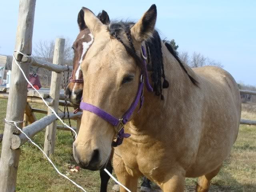
[[[156,5],[153,4],[140,18],[140,20],[131,28],[132,37],[142,42],[153,35],[156,24]]]

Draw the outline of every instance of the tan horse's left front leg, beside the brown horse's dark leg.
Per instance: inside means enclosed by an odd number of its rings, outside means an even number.
[[[132,176],[126,171],[126,166],[122,158],[114,154],[113,165],[118,181],[126,186],[130,191],[136,192],[138,185],[138,176]],[[120,186],[120,192],[126,192],[126,190]]]

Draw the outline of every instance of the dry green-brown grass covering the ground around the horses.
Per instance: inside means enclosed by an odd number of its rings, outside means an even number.
[[[6,100],[0,100],[0,130],[4,126]],[[35,105],[36,108],[42,105]],[[242,118],[256,120],[256,107],[243,104]],[[42,118],[37,114],[37,118]],[[73,122],[74,124],[74,122]],[[74,125],[73,125],[74,126]],[[40,146],[44,144],[44,132],[33,140]],[[0,144],[1,147],[1,144]],[[61,172],[68,172],[67,164],[75,164],[72,156],[72,137],[70,132],[59,131],[56,139],[56,152],[51,156]],[[81,170],[70,173],[70,178],[83,186],[88,192],[99,191],[99,172]],[[109,191],[114,182],[110,180]],[[186,179],[186,192],[194,191],[196,178]],[[78,192],[70,182],[59,176],[32,144],[22,146],[18,169],[17,192]],[[228,160],[220,173],[212,180],[210,192],[256,192],[256,126],[241,125],[240,132]]]

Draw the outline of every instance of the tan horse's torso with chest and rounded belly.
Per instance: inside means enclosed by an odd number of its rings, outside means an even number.
[[[194,68],[200,83],[195,88],[180,82],[182,70],[171,55],[165,63],[169,64],[166,73],[172,73],[166,76],[176,83],[164,92],[164,102],[146,94],[148,107],[125,126],[132,136],[114,153],[117,175],[128,173],[136,178],[143,174],[160,186],[176,174],[199,177],[218,170],[236,140],[241,111],[239,90],[228,72],[210,66]],[[121,182],[127,183],[126,179],[120,177]]]

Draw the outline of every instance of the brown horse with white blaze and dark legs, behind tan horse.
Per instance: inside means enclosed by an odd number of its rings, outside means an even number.
[[[110,22],[108,13],[104,10],[100,12],[97,15],[97,18],[103,23],[108,24]],[[82,71],[80,70],[80,64],[82,63],[82,60],[84,59],[84,56],[86,55],[86,52],[90,48],[92,42],[93,42],[93,36],[86,26],[84,22],[84,11],[80,10],[78,13],[77,23],[79,27],[79,34],[76,37],[75,42],[73,43],[72,49],[74,51],[74,58],[73,58],[73,71],[72,75],[70,77],[70,83],[68,84],[66,88],[66,96],[68,100],[75,106],[79,106],[81,102],[82,97],[82,90],[83,90],[83,75]],[[1,135],[0,135],[1,139]],[[1,141],[1,140],[0,140]],[[110,158],[109,162],[106,165],[107,170],[112,173],[112,164],[111,164],[112,158]],[[108,186],[108,180],[110,177],[104,170],[100,170],[100,179],[101,179],[101,185],[100,185],[100,192],[106,192],[107,186]],[[115,184],[114,189],[118,190],[119,186]],[[150,180],[143,178],[143,182],[141,185],[142,191],[150,191]]]

